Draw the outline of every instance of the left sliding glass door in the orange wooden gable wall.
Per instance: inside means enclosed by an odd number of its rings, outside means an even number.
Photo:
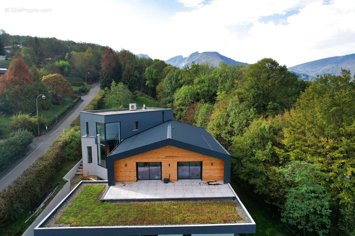
[[[162,179],[162,162],[137,162],[137,179]]]

